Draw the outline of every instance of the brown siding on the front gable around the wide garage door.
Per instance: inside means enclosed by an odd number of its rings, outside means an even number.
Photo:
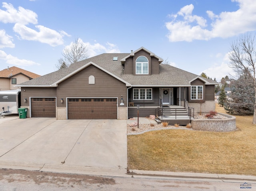
[[[95,84],[89,84],[88,78],[90,75],[95,77]],[[127,88],[124,83],[97,67],[90,65],[58,84],[57,106],[65,107],[66,97],[118,97],[118,106],[120,106],[122,96],[124,106],[126,106],[126,95]],[[61,98],[64,99],[64,103],[60,103]]]

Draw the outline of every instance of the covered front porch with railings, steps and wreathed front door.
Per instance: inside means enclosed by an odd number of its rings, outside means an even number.
[[[157,122],[188,124],[194,109],[188,106],[186,87],[133,88],[128,91],[128,118],[156,116]]]

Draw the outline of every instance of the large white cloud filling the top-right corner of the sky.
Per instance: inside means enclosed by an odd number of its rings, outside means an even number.
[[[177,14],[171,15],[172,21],[166,23],[169,41],[209,40],[214,37],[232,37],[240,33],[256,30],[256,1],[232,0],[238,2],[239,9],[234,12],[221,12],[219,15],[208,10],[210,30],[206,29],[206,19],[193,15],[192,4],[184,6]],[[182,18],[178,20],[178,18]]]

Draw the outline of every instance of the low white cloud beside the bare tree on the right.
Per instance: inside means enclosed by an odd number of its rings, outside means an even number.
[[[216,81],[220,82],[222,77],[234,75],[234,71],[232,68],[228,66],[229,58],[228,53],[224,56],[222,63],[215,64],[213,67],[210,67],[202,72],[206,73],[212,79],[216,78]],[[201,72],[201,73],[202,73]]]

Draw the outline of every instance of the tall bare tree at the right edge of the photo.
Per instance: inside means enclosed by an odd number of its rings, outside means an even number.
[[[256,124],[256,47],[255,35],[247,34],[231,45],[229,66],[238,76],[246,74],[254,87],[254,114],[252,124]]]

